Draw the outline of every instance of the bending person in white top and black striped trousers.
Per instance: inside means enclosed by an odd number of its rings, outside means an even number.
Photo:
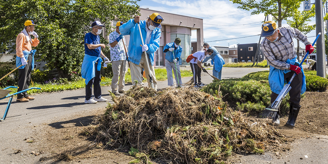
[[[212,49],[208,49],[207,51],[197,51],[191,55],[188,56],[188,58],[192,58],[189,63],[191,67],[191,71],[193,72],[194,76],[194,87],[199,88],[201,86],[205,86],[206,84],[201,82],[201,70],[203,72],[207,72],[206,69],[202,66],[202,61],[205,59],[205,57],[209,57],[213,54]],[[197,83],[198,79],[198,83]]]

